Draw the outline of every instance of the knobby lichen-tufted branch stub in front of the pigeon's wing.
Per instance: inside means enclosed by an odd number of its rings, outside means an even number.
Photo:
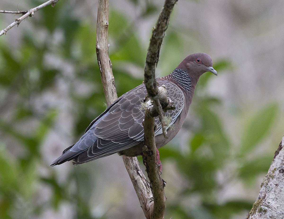
[[[159,117],[165,138],[168,138],[166,134],[167,128],[169,127],[169,118],[164,118],[163,112],[174,110],[175,108],[174,102],[167,96],[165,85],[158,87],[158,93],[155,96],[150,98],[147,94],[141,103],[141,109],[145,110],[145,116]]]

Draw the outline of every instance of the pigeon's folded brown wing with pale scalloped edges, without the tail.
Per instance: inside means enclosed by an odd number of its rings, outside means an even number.
[[[158,80],[159,85],[165,85],[168,97],[176,105],[176,109],[164,113],[169,118],[168,127],[172,126],[184,104],[184,95],[175,84]],[[108,110],[108,113],[96,123],[94,134],[97,136],[97,144],[93,144],[87,151],[88,157],[106,156],[118,151],[130,148],[144,140],[143,119],[144,110],[141,108],[143,99],[147,94],[145,85],[140,85],[134,90],[124,94],[116,104]],[[162,134],[162,127],[158,117],[155,118],[157,129],[155,136]],[[93,125],[93,126],[94,126]]]

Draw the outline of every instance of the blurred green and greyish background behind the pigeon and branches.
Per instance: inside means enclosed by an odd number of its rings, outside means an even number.
[[[1,0],[28,10],[42,0]],[[141,84],[163,1],[110,0],[118,96]],[[284,1],[179,0],[157,76],[206,52],[183,128],[160,149],[165,218],[241,219],[284,134]],[[50,167],[102,113],[97,1],[60,0],[0,37],[0,218],[145,218],[122,158]],[[18,15],[0,14],[0,29]],[[139,158],[141,161],[141,158]],[[142,167],[145,169],[145,167]]]

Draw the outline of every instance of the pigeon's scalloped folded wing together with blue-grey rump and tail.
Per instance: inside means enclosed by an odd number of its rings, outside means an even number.
[[[175,84],[162,79],[157,81],[159,85],[166,86],[168,97],[176,105],[176,109],[164,113],[165,117],[170,118],[168,124],[170,127],[176,122],[183,109],[184,95]],[[73,147],[66,149],[52,165],[71,159],[74,159],[75,163],[85,163],[117,153],[143,141],[142,122],[145,112],[141,108],[141,103],[146,94],[144,84],[123,94],[94,119],[80,140]],[[158,117],[155,118],[155,122],[157,123],[155,136],[157,136],[162,134],[162,128]]]

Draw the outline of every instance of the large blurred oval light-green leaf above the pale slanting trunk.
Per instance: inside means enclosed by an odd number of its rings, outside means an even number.
[[[240,153],[247,154],[269,133],[279,111],[278,104],[269,104],[258,111],[244,129],[241,138]]]

